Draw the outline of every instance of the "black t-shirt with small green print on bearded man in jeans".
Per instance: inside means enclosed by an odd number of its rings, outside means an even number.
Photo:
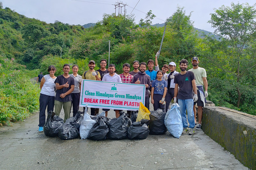
[[[186,100],[193,99],[193,86],[192,80],[196,79],[192,71],[187,71],[184,75],[175,74],[174,83],[178,84],[180,87],[177,98]]]

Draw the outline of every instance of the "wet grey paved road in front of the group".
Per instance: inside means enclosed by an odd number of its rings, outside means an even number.
[[[0,128],[0,169],[248,169],[202,130],[180,139],[166,132],[145,140],[62,141],[38,132],[38,117]]]

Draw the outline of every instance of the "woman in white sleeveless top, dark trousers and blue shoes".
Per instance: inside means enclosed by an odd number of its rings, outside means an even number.
[[[54,92],[54,81],[56,80],[56,77],[54,76],[54,73],[56,72],[56,68],[54,65],[50,65],[48,67],[48,72],[50,74],[44,75],[44,77],[41,79],[40,83],[40,97],[39,97],[39,132],[43,131],[43,126],[45,123],[45,109],[47,107],[47,113],[50,111],[53,111],[54,107],[54,98],[55,98],[55,92]]]

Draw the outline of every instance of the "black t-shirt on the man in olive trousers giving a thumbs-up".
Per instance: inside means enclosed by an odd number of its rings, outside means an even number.
[[[60,75],[56,78],[56,80],[54,81],[54,83],[59,83],[60,85],[64,85],[68,82],[69,86],[68,87],[63,87],[60,90],[56,90],[56,95],[55,95],[55,99],[54,100],[58,100],[60,102],[67,102],[67,101],[72,101],[71,98],[71,93],[68,94],[67,96],[65,96],[63,99],[60,98],[60,94],[67,92],[71,85],[75,85],[75,81],[74,78],[69,76],[68,78],[65,78],[63,75]]]

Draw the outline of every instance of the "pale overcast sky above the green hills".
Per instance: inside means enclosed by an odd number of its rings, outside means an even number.
[[[23,14],[29,18],[36,18],[47,23],[53,23],[59,20],[63,23],[84,25],[87,23],[95,23],[102,19],[104,13],[111,14],[115,12],[114,0],[0,0],[3,6],[9,7],[16,12]],[[199,29],[204,29],[213,32],[211,24],[207,21],[210,19],[210,13],[213,13],[213,8],[219,8],[221,5],[230,6],[231,2],[240,4],[248,2],[250,5],[255,3],[255,0],[124,0],[123,4],[127,4],[127,14],[134,14],[136,23],[140,18],[145,18],[145,13],[152,10],[156,15],[153,24],[164,23],[166,18],[169,18],[177,9],[177,5],[185,7],[186,14],[191,11],[191,20],[194,21],[194,26]],[[118,1],[120,2],[120,1]],[[138,4],[137,4],[138,3]],[[137,4],[137,6],[136,6]],[[136,6],[136,7],[135,7]],[[133,10],[133,8],[135,9]],[[123,10],[124,8],[122,8]],[[132,11],[133,10],[133,11]],[[143,13],[144,12],[144,13]],[[122,12],[124,13],[124,12]]]

